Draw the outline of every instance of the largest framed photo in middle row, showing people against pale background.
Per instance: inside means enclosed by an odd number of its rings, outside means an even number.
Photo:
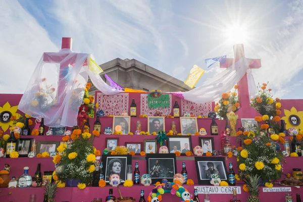
[[[185,155],[187,151],[192,152],[191,136],[167,136],[167,146],[169,153],[175,154],[180,151],[181,155]]]

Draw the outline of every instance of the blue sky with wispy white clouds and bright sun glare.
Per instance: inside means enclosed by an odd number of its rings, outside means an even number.
[[[256,84],[275,96],[302,98],[303,1],[0,1],[0,92],[23,93],[43,52],[62,37],[97,63],[136,59],[184,81],[193,65],[207,72],[196,87],[222,71],[205,59],[228,55],[226,32],[246,29],[247,58],[260,58]]]

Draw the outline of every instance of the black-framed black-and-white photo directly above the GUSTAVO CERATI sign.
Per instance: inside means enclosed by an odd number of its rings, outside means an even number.
[[[225,157],[194,157],[194,161],[199,184],[211,184],[212,174],[218,174],[221,180],[228,180]]]

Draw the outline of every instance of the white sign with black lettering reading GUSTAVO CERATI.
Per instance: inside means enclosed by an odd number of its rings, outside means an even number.
[[[204,194],[205,192],[212,193],[221,193],[221,194],[232,194],[232,190],[236,189],[237,193],[241,193],[240,186],[194,186],[198,190],[198,194]]]

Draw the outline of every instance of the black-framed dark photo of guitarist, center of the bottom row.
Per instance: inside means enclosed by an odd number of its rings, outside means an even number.
[[[175,154],[146,154],[146,173],[153,184],[167,179],[172,182],[177,173]]]

